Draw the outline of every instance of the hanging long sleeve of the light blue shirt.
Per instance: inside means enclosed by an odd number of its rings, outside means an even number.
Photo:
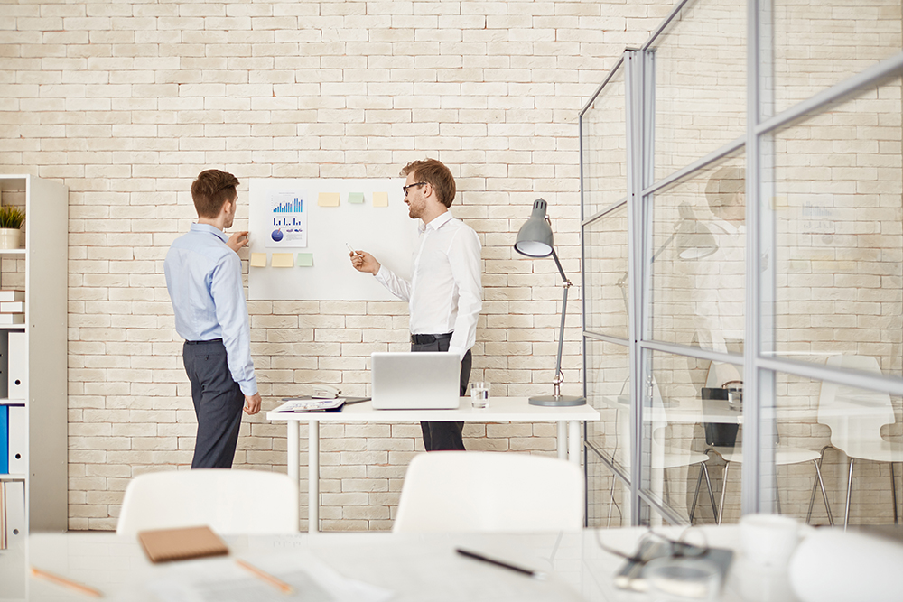
[[[210,273],[210,294],[216,306],[217,320],[226,346],[228,369],[241,392],[257,393],[254,362],[251,360],[251,329],[247,319],[245,291],[241,284],[241,260],[224,255]]]

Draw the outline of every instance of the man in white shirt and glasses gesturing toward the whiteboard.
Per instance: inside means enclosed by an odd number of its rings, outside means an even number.
[[[414,254],[411,282],[392,273],[364,251],[351,253],[358,272],[372,273],[411,312],[411,351],[448,351],[461,357],[461,395],[470,380],[470,347],[476,340],[477,318],[483,307],[479,237],[453,218],[455,184],[452,172],[435,159],[410,162],[405,203],[408,216],[422,221]],[[421,422],[427,451],[464,449],[463,422]]]

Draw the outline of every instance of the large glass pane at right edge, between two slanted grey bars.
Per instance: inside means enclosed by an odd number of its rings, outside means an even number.
[[[903,122],[894,78],[775,134],[775,348],[903,368]]]

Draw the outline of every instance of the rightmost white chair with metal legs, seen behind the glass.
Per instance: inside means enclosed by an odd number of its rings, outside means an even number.
[[[881,373],[876,357],[832,356],[827,366],[861,372]],[[846,508],[843,511],[843,528],[850,522],[850,496],[852,494],[852,468],[857,459],[890,463],[890,491],[894,504],[894,523],[897,517],[897,484],[894,482],[894,464],[903,462],[903,445],[891,443],[881,437],[881,427],[896,421],[890,395],[880,391],[865,391],[842,384],[822,383],[818,396],[818,422],[831,429],[831,444],[822,449],[839,449],[850,458],[847,476]],[[819,460],[821,462],[821,460]],[[809,513],[815,500],[815,489],[809,500]]]

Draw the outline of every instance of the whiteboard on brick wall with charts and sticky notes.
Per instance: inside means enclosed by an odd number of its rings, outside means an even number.
[[[249,257],[266,254],[266,264],[248,267],[248,299],[396,300],[372,275],[351,267],[346,243],[411,278],[420,220],[408,217],[404,184],[404,178],[252,178]],[[374,206],[380,198],[386,207]],[[273,267],[274,254],[291,254],[293,266]]]

